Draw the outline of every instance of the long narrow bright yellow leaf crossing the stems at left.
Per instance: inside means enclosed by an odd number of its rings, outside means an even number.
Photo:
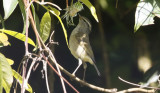
[[[18,33],[16,31],[12,31],[12,30],[5,30],[5,29],[0,29],[0,31],[8,34],[8,35],[11,35],[21,41],[25,41],[26,40],[26,36],[24,34],[21,34],[21,33]],[[32,39],[28,38],[28,43],[35,46],[35,43],[33,42]]]

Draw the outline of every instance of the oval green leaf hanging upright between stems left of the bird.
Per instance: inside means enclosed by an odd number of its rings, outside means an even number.
[[[51,31],[51,17],[49,12],[46,12],[43,15],[40,23],[40,36],[44,43],[48,39],[50,31]]]

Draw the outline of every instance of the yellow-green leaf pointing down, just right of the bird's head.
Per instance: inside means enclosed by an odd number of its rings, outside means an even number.
[[[95,18],[95,20],[96,20],[97,22],[99,22],[99,21],[98,21],[97,14],[96,14],[96,9],[95,9],[95,7],[90,3],[90,1],[89,1],[89,0],[80,0],[80,1],[81,1],[82,3],[84,3],[84,4],[90,9],[92,16]]]

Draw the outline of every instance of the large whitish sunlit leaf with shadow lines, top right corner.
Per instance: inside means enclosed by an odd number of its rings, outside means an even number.
[[[135,13],[135,25],[134,32],[136,32],[140,26],[154,24],[153,18],[160,17],[160,8],[155,0],[141,0]]]

